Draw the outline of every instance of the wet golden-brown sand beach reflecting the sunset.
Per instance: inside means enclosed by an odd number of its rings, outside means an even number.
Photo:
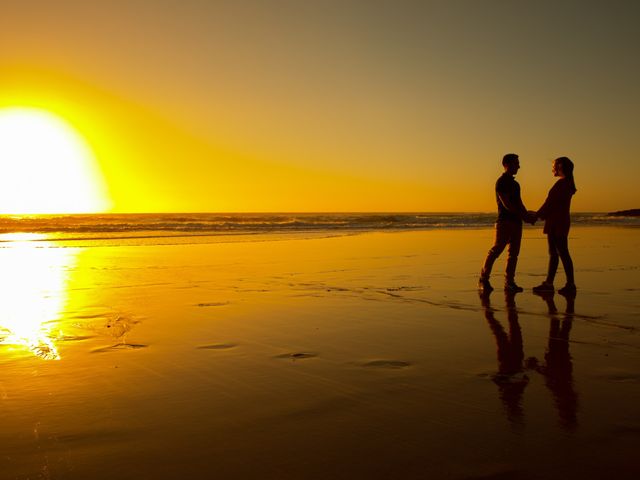
[[[640,231],[492,235],[3,244],[0,479],[638,478]]]

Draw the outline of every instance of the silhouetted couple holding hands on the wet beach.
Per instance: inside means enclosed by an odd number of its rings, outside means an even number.
[[[504,289],[507,292],[521,292],[522,287],[515,282],[516,265],[520,253],[522,241],[522,222],[535,224],[536,220],[543,219],[544,233],[549,243],[549,268],[547,278],[533,290],[536,293],[553,292],[553,280],[558,270],[559,261],[567,277],[566,285],[558,290],[562,294],[570,294],[576,291],[573,277],[573,261],[569,255],[569,226],[571,197],[576,192],[573,180],[573,162],[567,157],[556,158],[553,161],[552,172],[559,180],[551,187],[544,204],[537,212],[528,211],[520,197],[520,185],[513,178],[520,169],[520,159],[515,153],[508,153],[502,158],[504,173],[496,182],[496,203],[498,204],[498,221],[496,222],[496,239],[493,247],[487,254],[478,288],[483,292],[493,290],[489,277],[496,259],[508,246],[507,268],[505,273]]]

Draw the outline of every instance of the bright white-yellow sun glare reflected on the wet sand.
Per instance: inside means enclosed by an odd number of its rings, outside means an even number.
[[[0,234],[0,346],[60,359],[56,339],[77,253],[41,234]]]

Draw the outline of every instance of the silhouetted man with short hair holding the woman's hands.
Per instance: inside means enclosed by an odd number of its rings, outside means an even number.
[[[496,222],[496,239],[493,247],[487,254],[478,288],[484,292],[493,290],[489,277],[496,259],[506,246],[509,246],[507,268],[505,272],[504,289],[508,292],[521,292],[515,282],[518,253],[522,240],[522,221],[532,225],[535,223],[535,214],[528,212],[520,198],[520,185],[513,178],[520,169],[520,159],[515,153],[507,153],[502,158],[504,173],[496,181],[496,203],[498,204],[498,221]]]

